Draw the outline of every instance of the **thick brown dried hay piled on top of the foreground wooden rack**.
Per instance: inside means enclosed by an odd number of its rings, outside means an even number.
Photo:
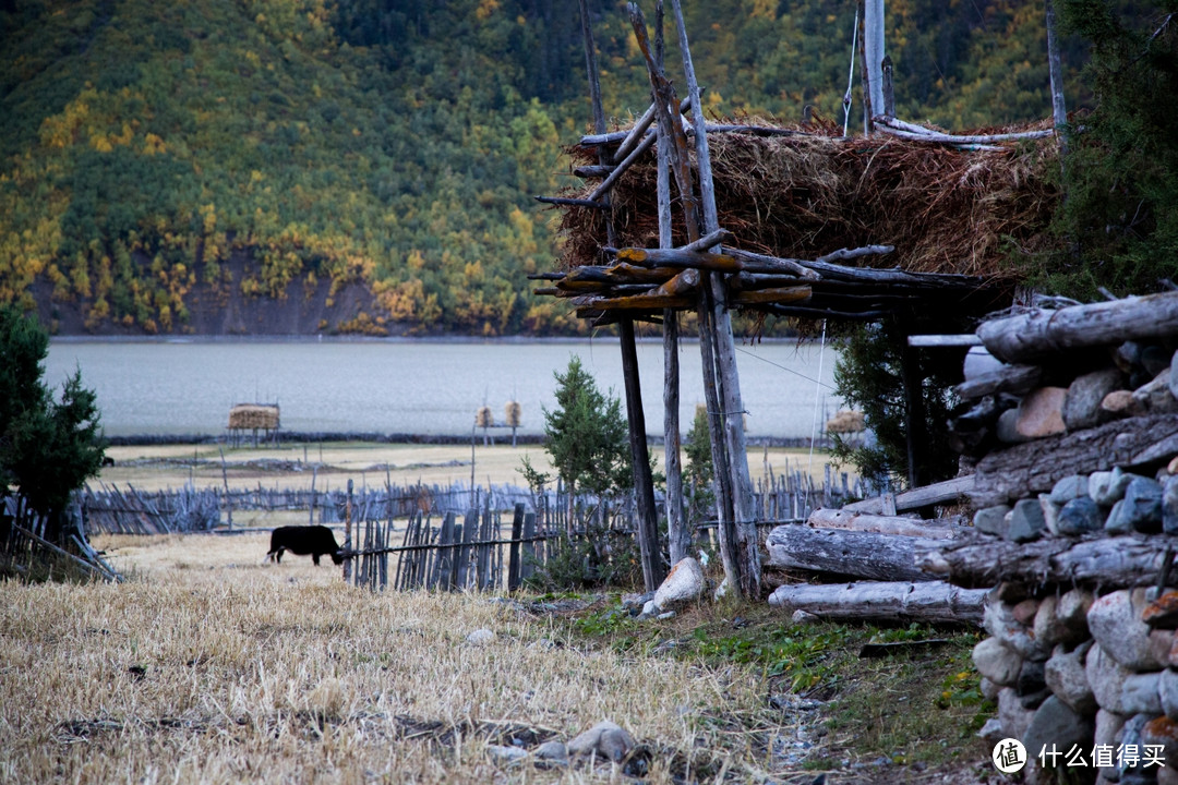
[[[1041,127],[1050,126],[977,133]],[[1054,139],[965,152],[884,134],[842,139],[833,124],[799,131],[806,134],[709,134],[720,226],[735,234],[736,247],[816,259],[843,247],[893,245],[895,253],[861,264],[1013,279],[1010,251],[1048,244],[1058,200]],[[597,162],[596,148],[576,146],[570,154],[577,165]],[[623,247],[659,245],[655,173],[651,152],[611,192]],[[595,185],[563,195],[583,199]],[[603,211],[562,209],[564,266],[601,264]],[[676,207],[676,246],[687,242],[681,217]]]

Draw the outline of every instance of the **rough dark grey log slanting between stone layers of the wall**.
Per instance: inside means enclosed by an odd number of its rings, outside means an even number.
[[[1174,453],[1178,417],[1152,414],[1113,420],[991,452],[978,461],[969,498],[975,507],[1007,504],[1051,491],[1057,481],[1072,474],[1146,466]]]

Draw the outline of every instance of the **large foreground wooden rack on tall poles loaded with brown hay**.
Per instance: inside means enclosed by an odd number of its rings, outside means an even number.
[[[670,6],[687,97],[680,100],[663,68],[662,5],[651,46],[631,4],[653,104],[630,127],[609,132],[581,4],[595,133],[570,154],[574,174],[594,184],[537,197],[563,209],[565,244],[563,268],[532,278],[547,284],[538,294],[568,299],[595,326],[618,327],[648,590],[663,567],[650,479],[642,475],[648,461],[634,321],[663,325],[668,530],[676,563],[690,546],[677,506],[679,319],[684,311],[695,315],[726,583],[756,597],[760,544],[730,310],[807,319],[895,317],[911,332],[945,332],[947,322],[1005,306],[1015,274],[1002,265],[1000,244],[1041,242],[1057,197],[1040,175],[1058,167],[1058,149],[1050,127],[953,137],[884,117],[887,111],[875,118],[881,133],[861,139],[821,120],[793,127],[760,119],[708,122],[699,111],[682,12],[677,0]],[[674,226],[673,180],[682,211]],[[885,259],[888,268],[879,266]],[[915,412],[922,379],[916,372],[905,377]],[[909,438],[916,466],[922,434],[909,428]]]

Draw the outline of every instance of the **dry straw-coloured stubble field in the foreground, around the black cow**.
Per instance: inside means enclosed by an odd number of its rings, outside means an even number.
[[[602,719],[647,781],[792,781],[741,730],[775,711],[756,667],[594,646],[561,603],[371,594],[263,534],[95,545],[126,583],[0,583],[2,783],[618,781],[488,756]]]

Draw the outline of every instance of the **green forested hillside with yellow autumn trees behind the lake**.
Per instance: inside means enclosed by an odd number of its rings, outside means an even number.
[[[624,4],[589,6],[626,121],[649,98]],[[841,119],[854,2],[687,6],[712,112]],[[898,114],[1048,117],[1043,7],[891,0]],[[1083,56],[1065,39],[1073,104]],[[0,304],[184,332],[197,291],[330,306],[359,284],[318,328],[577,331],[525,274],[556,255],[531,195],[573,182],[584,74],[574,2],[0,0]]]

